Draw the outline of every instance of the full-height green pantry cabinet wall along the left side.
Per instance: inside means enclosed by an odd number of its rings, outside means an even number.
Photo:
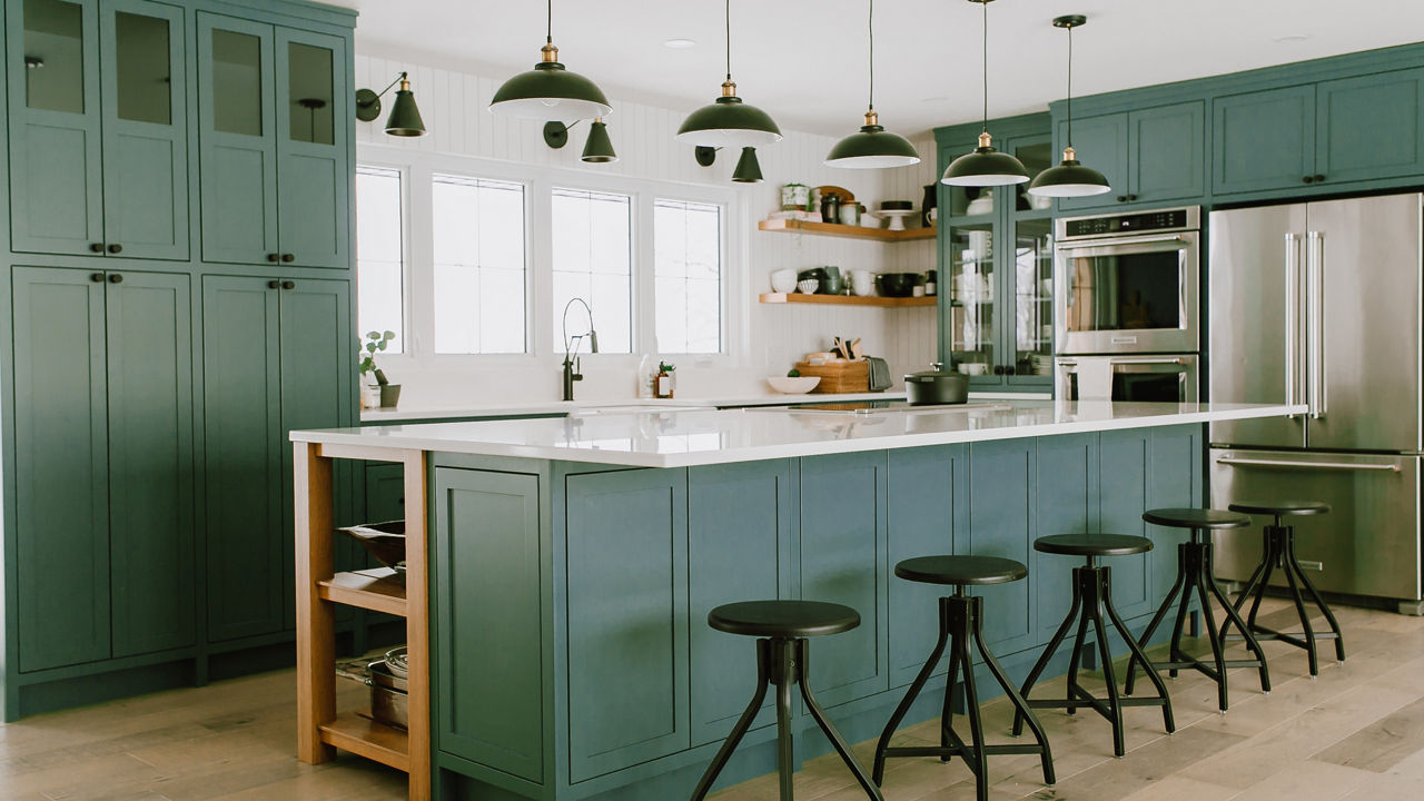
[[[289,663],[286,435],[357,418],[355,11],[0,24],[4,718]]]

